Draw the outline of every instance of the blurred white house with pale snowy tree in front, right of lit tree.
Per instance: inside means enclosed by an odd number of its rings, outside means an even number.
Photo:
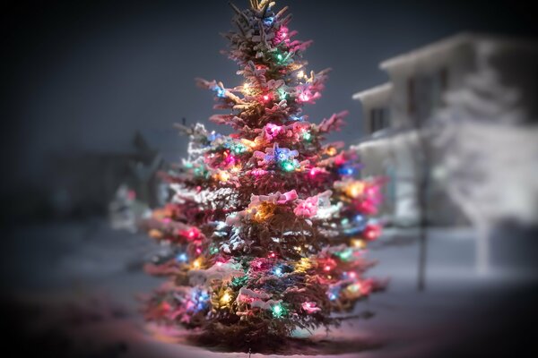
[[[363,175],[389,178],[389,222],[487,232],[538,217],[536,43],[462,33],[380,68],[389,81],[353,96],[367,134],[355,148]]]

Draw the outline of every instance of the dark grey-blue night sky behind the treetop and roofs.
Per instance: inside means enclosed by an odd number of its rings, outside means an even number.
[[[40,4],[37,4],[40,3]],[[240,7],[247,0],[237,0]],[[377,64],[462,30],[534,37],[530,8],[514,2],[288,0],[291,28],[314,39],[309,68],[332,67],[325,96],[306,114],[317,122],[349,109],[346,131],[360,138],[351,99],[386,81]],[[194,78],[240,83],[219,51],[231,28],[225,0],[4,2],[2,154],[10,183],[39,181],[53,153],[127,150],[134,131],[169,157],[185,140],[172,124],[206,122],[211,93]],[[5,178],[4,178],[5,179]]]

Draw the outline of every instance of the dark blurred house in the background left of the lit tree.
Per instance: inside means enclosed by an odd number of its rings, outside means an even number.
[[[59,215],[103,215],[120,187],[149,208],[162,204],[158,172],[166,166],[161,153],[136,132],[125,152],[64,154],[52,160],[53,208]]]

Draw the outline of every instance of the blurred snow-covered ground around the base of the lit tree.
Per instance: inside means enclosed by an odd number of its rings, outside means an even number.
[[[375,317],[346,322],[328,335],[320,330],[315,334],[317,345],[293,346],[289,354],[526,356],[513,354],[535,347],[532,340],[525,341],[532,331],[521,330],[525,321],[538,316],[535,270],[515,264],[516,259],[499,259],[490,276],[477,276],[473,232],[431,229],[427,286],[417,292],[416,234],[412,229],[386,230],[369,253],[379,260],[371,276],[390,278],[386,292],[357,307],[357,312],[373,311]],[[528,243],[498,236],[494,247],[502,252]],[[181,334],[164,334],[144,324],[135,297],[159,285],[141,270],[143,260],[159,247],[143,234],[112,231],[95,219],[25,226],[11,230],[7,242],[2,285],[11,294],[4,294],[4,311],[9,313],[4,324],[22,329],[32,343],[38,342],[35,346],[61,352],[56,357],[248,356],[189,345]],[[29,317],[29,311],[35,314]]]

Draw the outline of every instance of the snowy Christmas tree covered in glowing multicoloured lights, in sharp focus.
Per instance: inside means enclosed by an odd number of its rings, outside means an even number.
[[[320,97],[327,70],[307,72],[310,41],[293,39],[287,8],[250,0],[235,11],[227,54],[244,81],[226,88],[198,80],[229,114],[234,132],[180,125],[188,158],[166,175],[173,196],[149,220],[168,251],[147,266],[169,277],[148,300],[148,320],[199,328],[215,342],[251,345],[297,328],[338,324],[335,312],[382,288],[364,277],[380,226],[379,181],[358,180],[356,155],[323,144],[345,112],[320,124],[302,114]]]

